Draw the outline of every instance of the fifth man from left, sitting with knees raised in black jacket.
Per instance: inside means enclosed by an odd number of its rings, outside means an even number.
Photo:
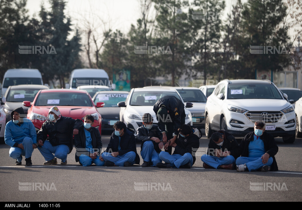
[[[143,115],[143,125],[137,128],[137,140],[141,141],[140,155],[143,158],[142,167],[156,166],[162,162],[159,153],[164,146],[162,131],[153,124],[153,117],[149,113]]]

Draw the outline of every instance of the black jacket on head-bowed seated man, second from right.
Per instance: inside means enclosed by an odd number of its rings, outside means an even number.
[[[240,156],[240,148],[239,145],[232,134],[226,132],[225,130],[218,131],[219,133],[224,133],[224,139],[222,146],[218,146],[212,139],[210,139],[207,154],[210,156],[214,156],[215,149],[221,149],[222,152],[230,151],[231,156],[235,159]]]

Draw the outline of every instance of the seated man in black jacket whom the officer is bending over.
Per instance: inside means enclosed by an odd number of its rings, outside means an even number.
[[[199,148],[199,139],[201,138],[201,131],[190,125],[183,124],[178,128],[178,137],[172,145],[167,142],[165,144],[165,149],[168,146],[175,148],[173,155],[170,155],[168,152],[160,152],[159,158],[166,163],[157,163],[159,168],[188,168],[190,169],[193,166],[196,158],[195,154],[192,154],[193,151],[196,152]]]

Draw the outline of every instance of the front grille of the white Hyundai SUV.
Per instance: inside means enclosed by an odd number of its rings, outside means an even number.
[[[277,123],[281,117],[281,112],[247,112],[246,116],[252,123],[263,120],[265,123]]]

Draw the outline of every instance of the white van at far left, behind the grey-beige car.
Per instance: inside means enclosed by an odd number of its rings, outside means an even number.
[[[37,69],[8,69],[3,77],[1,96],[7,88],[14,85],[43,85],[42,75]]]

